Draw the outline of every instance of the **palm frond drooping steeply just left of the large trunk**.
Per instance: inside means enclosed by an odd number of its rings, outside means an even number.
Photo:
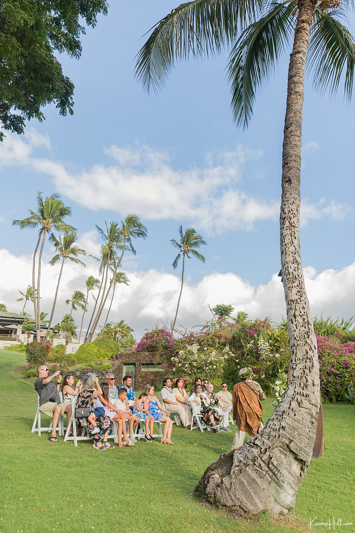
[[[238,127],[247,127],[256,94],[274,74],[285,51],[291,48],[294,7],[293,2],[272,2],[269,11],[243,31],[230,52],[231,107]]]

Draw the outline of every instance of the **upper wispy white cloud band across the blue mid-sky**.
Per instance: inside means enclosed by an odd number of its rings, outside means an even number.
[[[315,148],[315,141],[306,149]],[[56,190],[88,209],[137,213],[147,220],[184,220],[207,233],[251,230],[261,221],[277,221],[279,199],[252,197],[241,188],[246,167],[262,157],[260,150],[237,146],[233,151],[209,152],[202,168],[176,169],[166,151],[146,144],[111,146],[105,154],[114,164],[93,165],[80,171],[60,161],[37,157],[39,148],[51,150],[48,137],[32,131],[24,138],[9,135],[0,152],[0,166],[18,165],[52,176]],[[308,148],[307,148],[308,147]],[[255,175],[263,169],[255,167]],[[311,219],[342,219],[350,209],[334,201],[306,201],[302,224]]]

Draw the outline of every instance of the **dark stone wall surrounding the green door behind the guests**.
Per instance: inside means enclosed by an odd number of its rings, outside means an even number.
[[[136,365],[137,391],[143,391],[148,383],[153,383],[155,389],[161,390],[164,378],[163,370],[142,370],[142,365],[161,365],[162,357],[154,352],[119,352],[109,359],[112,361],[112,372],[118,386],[122,383],[123,365]]]

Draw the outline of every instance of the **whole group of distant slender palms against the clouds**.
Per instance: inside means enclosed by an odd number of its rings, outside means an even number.
[[[98,257],[93,255],[90,257],[97,262],[97,277],[90,275],[85,282],[85,287],[78,287],[71,297],[65,300],[68,313],[53,324],[57,300],[61,297],[60,284],[65,264],[72,262],[82,266],[83,269],[86,268],[86,264],[82,261],[86,252],[77,245],[77,230],[68,222],[72,215],[71,208],[65,206],[57,194],[44,197],[42,192],[37,192],[36,201],[37,206],[29,209],[27,218],[13,221],[13,225],[21,229],[37,230],[36,240],[34,240],[32,282],[24,292],[19,290],[20,297],[16,300],[23,302],[22,314],[26,317],[22,332],[27,332],[28,338],[31,332],[36,332],[37,340],[42,339],[49,343],[54,338],[63,335],[67,344],[72,342],[73,338],[77,338],[79,343],[82,341],[88,343],[94,340],[96,334],[98,337],[112,336],[122,348],[132,348],[135,344],[134,330],[124,320],[119,319],[120,317],[114,317],[111,322],[109,318],[113,318],[111,308],[114,298],[117,298],[117,285],[129,286],[130,283],[126,274],[120,270],[123,256],[126,252],[136,255],[136,240],[147,238],[147,228],[139,217],[132,213],[119,223],[104,222],[103,228],[96,225],[102,246]],[[40,305],[43,251],[46,242],[51,245],[54,252],[49,264],[52,266],[56,263],[60,264],[49,319],[47,319],[49,313],[41,311]],[[178,249],[178,255],[172,263],[174,269],[177,268],[180,257],[182,258],[181,289],[171,326],[171,332],[174,332],[183,292],[185,259],[193,256],[204,262],[205,258],[199,253],[199,248],[206,243],[194,228],[183,230],[180,226],[179,238],[178,240],[171,239],[171,244]],[[0,310],[6,311],[6,306],[1,305]],[[33,306],[34,318],[29,313],[29,305]],[[77,313],[78,321],[80,320],[80,328],[76,325],[75,313]],[[87,326],[84,326],[85,313],[88,313]],[[103,320],[102,325],[101,320]]]

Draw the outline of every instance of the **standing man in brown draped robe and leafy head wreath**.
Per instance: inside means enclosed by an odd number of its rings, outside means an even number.
[[[262,427],[262,405],[260,400],[266,396],[257,381],[253,381],[253,370],[250,367],[241,368],[239,375],[242,380],[234,385],[232,403],[233,419],[237,430],[232,442],[232,450],[243,446],[245,433],[254,437]]]

